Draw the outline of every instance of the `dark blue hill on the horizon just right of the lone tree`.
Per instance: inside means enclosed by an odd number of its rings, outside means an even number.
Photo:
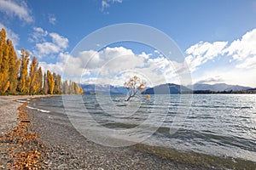
[[[183,92],[191,92],[191,89],[173,83],[166,83],[148,88],[143,94],[181,94]]]

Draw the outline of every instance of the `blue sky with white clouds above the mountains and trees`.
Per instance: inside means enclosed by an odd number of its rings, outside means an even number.
[[[143,41],[102,44],[119,34],[129,37],[127,27],[101,34],[124,23],[165,34],[182,61]],[[256,88],[256,0],[0,0],[0,28],[18,55],[26,48],[44,71],[76,82],[122,85],[136,74],[148,86],[224,82]],[[96,33],[92,46],[87,37]],[[146,37],[162,40],[154,33]],[[189,78],[181,76],[184,68]]]

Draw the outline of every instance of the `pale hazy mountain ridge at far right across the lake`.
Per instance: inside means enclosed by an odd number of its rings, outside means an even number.
[[[192,89],[192,86],[188,86],[188,88]],[[250,87],[244,87],[239,85],[229,85],[225,83],[216,83],[216,84],[205,84],[205,83],[196,83],[193,85],[193,90],[210,90],[215,92],[222,92],[222,91],[239,91],[239,90],[247,90]]]

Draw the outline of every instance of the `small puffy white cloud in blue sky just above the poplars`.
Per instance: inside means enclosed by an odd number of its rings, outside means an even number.
[[[39,58],[47,54],[59,54],[67,49],[67,37],[62,37],[55,32],[44,31],[41,27],[34,27],[33,30],[34,32],[29,37],[29,41],[36,42],[32,53]]]

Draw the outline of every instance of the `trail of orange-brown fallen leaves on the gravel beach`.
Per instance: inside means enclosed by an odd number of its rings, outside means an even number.
[[[47,154],[41,150],[44,145],[39,143],[38,133],[29,130],[31,125],[26,111],[23,111],[25,106],[26,104],[18,108],[19,125],[3,136],[5,141],[9,141],[9,145],[15,146],[7,148],[9,164],[6,169],[48,169],[44,161]]]

